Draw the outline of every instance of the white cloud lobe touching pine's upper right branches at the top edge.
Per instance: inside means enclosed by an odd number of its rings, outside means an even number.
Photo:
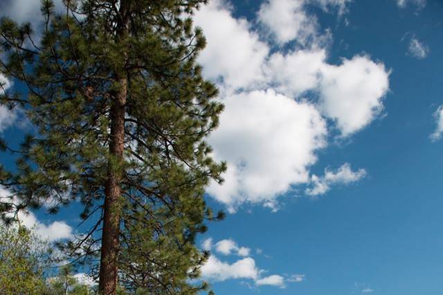
[[[194,17],[195,24],[204,28],[207,36],[205,50],[199,56],[206,78],[223,78],[224,84],[249,87],[262,79],[262,66],[269,53],[246,19],[235,19],[224,0],[210,1]]]

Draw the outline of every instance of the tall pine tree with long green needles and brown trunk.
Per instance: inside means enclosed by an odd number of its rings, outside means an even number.
[[[205,139],[222,105],[196,63],[205,46],[191,15],[206,0],[42,1],[39,41],[30,24],[3,18],[0,73],[27,91],[0,103],[21,107],[36,132],[1,172],[21,206],[48,200],[56,213],[78,201],[90,230],[65,245],[74,262],[100,256],[102,294],[196,294],[207,258],[195,236],[215,220],[204,201],[224,163]],[[4,212],[14,210],[4,202]],[[8,217],[10,214],[4,214]]]

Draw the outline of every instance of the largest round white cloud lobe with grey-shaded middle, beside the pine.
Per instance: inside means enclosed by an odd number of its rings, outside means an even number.
[[[308,181],[314,152],[325,146],[326,125],[314,105],[273,90],[224,99],[220,127],[210,137],[215,158],[228,163],[222,186],[208,192],[230,209],[274,202],[292,184]]]

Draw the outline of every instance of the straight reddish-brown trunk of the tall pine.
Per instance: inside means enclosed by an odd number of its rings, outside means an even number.
[[[120,1],[120,19],[116,33],[119,42],[128,34],[129,18],[127,1]],[[123,54],[126,59],[127,55]],[[126,60],[124,60],[126,62]],[[127,75],[117,74],[120,90],[111,102],[111,133],[109,138],[110,162],[105,184],[105,204],[103,206],[102,249],[100,257],[99,294],[116,295],[118,281],[118,249],[120,247],[120,197],[123,163],[125,150],[125,105],[127,99]],[[119,76],[120,75],[120,76]]]

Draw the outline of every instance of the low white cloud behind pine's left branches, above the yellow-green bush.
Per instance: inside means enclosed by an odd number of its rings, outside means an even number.
[[[10,192],[5,188],[0,188],[0,200],[2,199],[8,199],[8,202],[17,203],[15,197],[12,197]],[[29,229],[35,229],[38,235],[49,242],[73,237],[72,228],[66,224],[66,222],[55,221],[50,224],[44,224],[37,220],[34,213],[24,210],[19,211],[17,218],[21,225]]]

